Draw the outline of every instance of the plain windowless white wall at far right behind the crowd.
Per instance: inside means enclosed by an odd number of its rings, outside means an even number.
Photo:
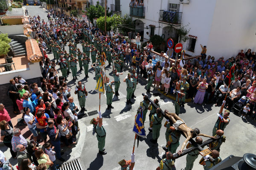
[[[225,59],[241,49],[256,51],[256,0],[217,0],[207,54]]]

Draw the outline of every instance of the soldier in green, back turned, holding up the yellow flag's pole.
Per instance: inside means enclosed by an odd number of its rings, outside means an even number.
[[[93,124],[93,128],[96,132],[96,137],[98,140],[98,148],[99,148],[99,154],[106,155],[107,152],[105,152],[105,139],[106,139],[106,131],[102,125],[102,115],[99,111],[99,116],[96,119],[92,119],[90,121],[90,124]]]

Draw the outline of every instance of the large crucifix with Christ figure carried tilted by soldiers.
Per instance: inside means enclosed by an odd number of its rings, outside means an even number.
[[[142,94],[143,96],[145,96],[145,94],[143,93]],[[149,100],[149,102],[151,102],[151,104],[154,106],[154,108],[159,108],[151,99],[149,99],[148,98],[148,100]],[[173,114],[175,114],[175,113],[173,113]],[[189,131],[190,130],[192,130],[190,127],[187,127],[185,124],[184,124],[184,122],[182,122],[181,120],[180,120],[180,118],[176,115],[173,115],[172,116],[172,113],[169,113],[168,111],[162,111],[162,115],[166,118],[166,119],[168,119],[169,120],[169,122],[170,122],[170,124],[172,125],[172,126],[174,126],[177,130],[179,130],[180,131],[180,133],[186,138],[186,140],[185,140],[185,142],[191,142],[191,144],[193,145],[193,147],[190,147],[190,148],[188,148],[188,149],[185,149],[185,150],[181,150],[181,152],[180,152],[180,150],[179,150],[179,152],[178,153],[172,153],[173,154],[173,159],[177,159],[177,158],[179,158],[179,157],[181,157],[181,156],[184,156],[184,155],[186,155],[186,154],[188,154],[188,153],[190,153],[190,152],[192,152],[192,151],[194,151],[194,150],[199,150],[199,153],[201,154],[201,156],[206,156],[206,155],[208,155],[209,153],[211,153],[211,150],[209,149],[209,148],[207,148],[207,149],[203,149],[203,147],[204,146],[206,146],[207,144],[210,144],[210,143],[212,143],[212,142],[215,142],[216,140],[218,140],[221,136],[215,136],[214,138],[213,138],[213,136],[208,136],[208,135],[204,135],[204,134],[201,134],[201,133],[198,133],[197,135],[200,135],[200,136],[205,136],[205,137],[212,137],[211,139],[208,139],[208,140],[206,140],[206,141],[204,141],[202,144],[197,144],[196,142],[195,142],[195,140],[194,139],[192,139],[192,137],[191,138],[188,138],[188,136],[189,136],[189,134],[187,133],[187,130],[189,129]],[[176,122],[175,123],[173,123],[173,120],[176,120]],[[179,125],[180,124],[180,125]],[[183,127],[182,127],[183,126]],[[180,127],[179,129],[178,129],[178,127]],[[195,136],[197,136],[197,135],[195,135]],[[186,143],[185,143],[186,144]],[[182,148],[183,149],[183,148]],[[209,156],[209,158],[208,158],[210,161],[212,161],[212,162],[214,162],[215,160],[211,157],[211,156]]]

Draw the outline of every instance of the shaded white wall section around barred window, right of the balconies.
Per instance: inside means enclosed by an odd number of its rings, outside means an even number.
[[[186,50],[187,42],[183,43],[186,54],[195,56],[200,55],[202,48],[200,44],[208,46],[208,38],[212,26],[212,17],[214,14],[216,0],[190,0],[189,4],[183,4],[182,7],[182,26],[191,28],[189,34],[197,36],[195,52]],[[227,6],[226,6],[227,8]],[[229,7],[228,7],[229,8]],[[207,50],[208,54],[208,50]]]

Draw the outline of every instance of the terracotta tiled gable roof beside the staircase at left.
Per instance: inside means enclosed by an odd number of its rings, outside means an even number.
[[[27,57],[30,62],[40,62],[42,53],[35,39],[26,40]]]

